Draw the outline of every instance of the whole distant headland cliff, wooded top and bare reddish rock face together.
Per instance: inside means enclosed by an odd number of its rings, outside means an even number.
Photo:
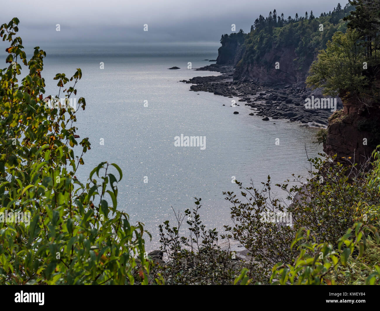
[[[340,12],[342,17],[346,14],[347,11]],[[335,32],[346,29],[343,19],[332,23],[329,16],[292,20],[285,24],[270,20],[268,17],[263,25],[256,24],[257,28],[247,34],[222,35],[217,64],[233,65],[234,81],[296,84],[296,87],[303,88],[318,51],[326,48]],[[324,26],[322,30],[321,24]]]

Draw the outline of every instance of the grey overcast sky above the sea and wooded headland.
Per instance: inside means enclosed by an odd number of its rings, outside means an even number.
[[[40,44],[141,44],[168,42],[218,42],[222,33],[249,32],[262,14],[276,9],[277,15],[315,16],[332,11],[331,0],[17,0],[2,6],[0,23],[20,19],[24,43]],[[342,7],[348,1],[342,1]],[[60,32],[56,31],[60,24]],[[148,31],[144,32],[144,24]]]

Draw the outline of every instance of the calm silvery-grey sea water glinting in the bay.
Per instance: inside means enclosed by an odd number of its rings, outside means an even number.
[[[231,224],[230,205],[222,192],[239,193],[233,178],[246,186],[252,179],[260,187],[268,175],[273,184],[292,173],[306,176],[310,167],[305,148],[309,157],[321,152],[321,146],[312,143],[313,129],[284,120],[262,121],[249,116],[250,107],[237,102],[239,98],[193,92],[190,84],[179,82],[219,75],[194,70],[211,63],[204,59],[216,59],[218,44],[41,48],[47,52],[46,95],[58,94],[56,73],[70,77],[76,68],[82,70],[76,98],[85,97],[87,106],[79,110],[76,126],[78,141],[89,137],[91,150],[76,176],[86,181],[102,161],[119,165],[123,179],[117,185],[118,209],[127,212],[132,223],[144,222],[153,236],[147,249],[158,246],[158,225],[173,222],[171,206],[183,212],[195,206],[194,197],[202,198],[204,224],[222,231]],[[188,62],[192,69],[187,69]],[[173,66],[180,69],[168,70]],[[232,108],[231,100],[240,106]],[[174,138],[181,134],[205,136],[206,148],[175,146]]]

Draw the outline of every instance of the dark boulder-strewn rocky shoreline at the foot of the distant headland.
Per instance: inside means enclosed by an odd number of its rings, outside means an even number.
[[[326,127],[331,116],[330,109],[306,109],[305,99],[323,97],[320,90],[300,88],[291,84],[276,84],[268,82],[233,81],[234,68],[232,65],[212,64],[196,69],[197,71],[217,71],[219,76],[197,76],[180,82],[193,84],[190,90],[195,92],[212,92],[225,97],[238,97],[239,102],[250,106],[249,115],[263,116],[264,121],[272,119],[288,119],[290,122],[300,122],[301,126]],[[342,108],[340,98],[337,109]]]

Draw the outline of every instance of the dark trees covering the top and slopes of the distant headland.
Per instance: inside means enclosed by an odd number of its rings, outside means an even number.
[[[332,12],[321,13],[320,17],[315,17],[312,11],[301,17],[296,13],[294,18],[289,16],[287,19],[283,14],[277,16],[276,10],[265,18],[260,15],[249,33],[239,30],[222,35],[217,63],[233,63],[236,66],[236,78],[239,79],[239,73],[253,63],[271,70],[274,63],[265,55],[290,48],[296,56],[294,68],[306,73],[318,50],[326,47],[335,32],[345,31],[347,22],[343,18],[352,10],[354,6],[350,3],[344,8],[338,3]],[[275,61],[281,62],[281,58],[277,57]]]

